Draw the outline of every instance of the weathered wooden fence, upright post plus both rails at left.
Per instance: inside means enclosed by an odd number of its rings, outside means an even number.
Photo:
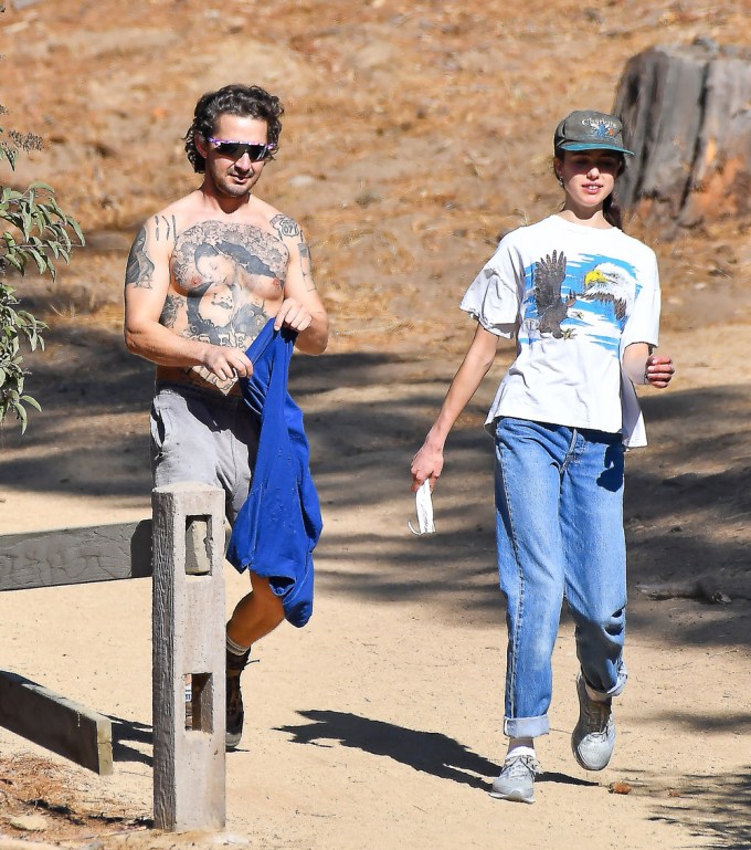
[[[224,495],[188,482],[152,492],[152,521],[0,537],[0,591],[154,577],[154,819],[225,822]],[[186,688],[191,695],[186,709]],[[0,671],[0,725],[98,774],[109,717]]]

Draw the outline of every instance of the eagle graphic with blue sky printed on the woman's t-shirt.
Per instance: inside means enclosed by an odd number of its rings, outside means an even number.
[[[573,339],[583,334],[617,350],[641,291],[631,263],[602,254],[571,260],[563,251],[553,251],[531,263],[525,276],[531,282],[522,305],[525,342]]]

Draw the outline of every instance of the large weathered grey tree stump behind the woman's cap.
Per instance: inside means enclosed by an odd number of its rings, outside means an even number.
[[[680,228],[751,216],[751,51],[699,39],[633,56],[613,112],[635,156],[618,203],[675,238]]]

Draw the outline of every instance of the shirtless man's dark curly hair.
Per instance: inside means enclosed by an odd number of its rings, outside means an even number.
[[[195,136],[208,139],[216,132],[216,122],[221,115],[236,115],[241,118],[260,118],[266,122],[268,127],[267,141],[275,145],[278,150],[282,122],[279,117],[284,113],[284,106],[278,97],[268,94],[258,85],[243,85],[234,83],[218,88],[215,92],[207,92],[199,98],[193,112],[193,123],[183,136],[188,159],[193,166],[193,171],[202,175],[205,170],[205,159],[195,147]]]

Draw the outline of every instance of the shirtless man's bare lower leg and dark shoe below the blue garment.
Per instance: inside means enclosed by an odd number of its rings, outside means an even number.
[[[284,620],[282,600],[268,579],[251,573],[253,589],[235,606],[226,625],[226,747],[234,749],[243,734],[243,695],[240,676],[247,664],[251,647]]]

